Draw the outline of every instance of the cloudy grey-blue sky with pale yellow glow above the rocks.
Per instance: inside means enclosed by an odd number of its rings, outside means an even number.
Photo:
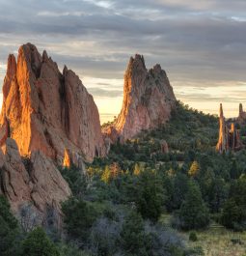
[[[9,53],[34,43],[75,71],[101,123],[122,107],[130,56],[159,63],[178,100],[226,117],[246,108],[245,0],[0,0],[0,85]],[[0,95],[0,102],[2,95]]]

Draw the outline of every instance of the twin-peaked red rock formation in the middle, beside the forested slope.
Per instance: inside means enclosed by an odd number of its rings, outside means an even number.
[[[131,57],[124,74],[123,107],[105,136],[114,142],[134,137],[142,130],[157,128],[169,120],[176,97],[165,71],[155,65],[146,69],[144,57]]]

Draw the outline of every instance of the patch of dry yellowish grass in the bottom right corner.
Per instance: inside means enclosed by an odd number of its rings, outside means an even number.
[[[168,223],[169,215],[163,215],[162,221]],[[179,232],[188,247],[201,246],[205,256],[246,256],[246,232],[232,232],[217,223],[212,223],[205,231],[196,231],[198,241],[190,242],[190,232]],[[241,242],[233,243],[232,240]]]

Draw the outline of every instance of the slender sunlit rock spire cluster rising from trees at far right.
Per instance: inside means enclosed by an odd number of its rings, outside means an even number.
[[[219,116],[219,140],[216,146],[216,150],[219,153],[226,153],[229,150],[238,151],[243,148],[239,130],[234,127],[234,124],[231,124],[231,128],[228,128],[226,123],[223,107],[220,104],[220,116]]]

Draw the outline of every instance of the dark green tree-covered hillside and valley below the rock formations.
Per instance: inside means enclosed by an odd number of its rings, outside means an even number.
[[[36,255],[39,246],[51,251],[45,255],[205,255],[201,238],[215,236],[211,224],[244,236],[246,151],[220,155],[217,137],[217,117],[178,102],[165,126],[112,145],[84,172],[60,167],[73,194],[62,207],[63,239],[52,223],[49,238],[41,229],[23,233],[7,205],[3,242],[15,246],[3,255]],[[241,239],[231,240],[243,250]]]

